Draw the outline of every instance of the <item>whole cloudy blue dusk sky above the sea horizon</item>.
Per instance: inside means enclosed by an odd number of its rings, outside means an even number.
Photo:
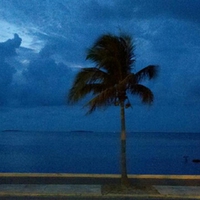
[[[119,108],[85,116],[66,104],[86,49],[102,34],[134,38],[136,65],[160,66],[132,98],[128,131],[200,132],[199,0],[0,0],[0,130],[119,131]]]

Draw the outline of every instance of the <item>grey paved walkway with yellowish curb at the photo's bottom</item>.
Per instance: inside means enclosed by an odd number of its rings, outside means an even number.
[[[149,199],[200,199],[200,186],[166,186],[154,185],[154,188],[159,194],[142,194],[142,195],[113,195],[107,194],[105,196],[127,196],[134,198],[149,198]],[[16,196],[17,198],[23,196],[30,197],[52,197],[52,196],[93,196],[100,197],[101,185],[75,185],[75,184],[0,184],[0,199]],[[17,199],[16,198],[16,199]]]

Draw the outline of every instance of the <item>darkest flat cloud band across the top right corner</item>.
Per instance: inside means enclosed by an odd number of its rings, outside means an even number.
[[[200,20],[199,0],[117,0],[115,11],[124,19],[177,18],[191,22]],[[117,15],[117,14],[116,14]]]

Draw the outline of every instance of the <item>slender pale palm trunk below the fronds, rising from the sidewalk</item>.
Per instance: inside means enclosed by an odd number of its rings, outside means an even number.
[[[120,104],[121,111],[121,184],[129,184],[126,167],[126,125],[124,102]]]

